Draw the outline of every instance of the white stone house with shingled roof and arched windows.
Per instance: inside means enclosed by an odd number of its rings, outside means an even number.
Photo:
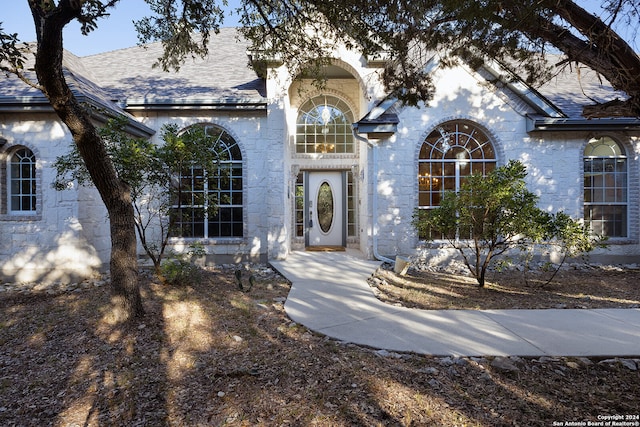
[[[205,126],[228,148],[231,179],[203,188],[225,202],[215,217],[183,224],[175,249],[200,242],[215,263],[266,262],[311,246],[422,254],[430,245],[411,226],[416,207],[437,206],[469,173],[519,159],[542,208],[609,236],[593,257],[638,262],[640,120],[581,118],[590,99],[611,99],[593,73],[568,70],[531,88],[498,64],[450,69],[434,58],[426,66],[436,93],[418,108],[386,97],[383,63],[358,52],[336,51],[317,89],[278,63],[257,75],[233,29],[212,39],[209,57],[178,73],[151,68],[156,44],[65,56],[69,83],[98,124],[122,115],[132,134],[157,143],[164,124]],[[0,278],[59,280],[108,266],[97,192],[51,187],[52,163],[71,142],[40,93],[0,80]]]

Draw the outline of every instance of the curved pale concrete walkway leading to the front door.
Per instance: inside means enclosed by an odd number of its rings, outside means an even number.
[[[357,251],[293,252],[289,317],[359,345],[436,356],[640,356],[640,309],[417,310],[380,302]]]

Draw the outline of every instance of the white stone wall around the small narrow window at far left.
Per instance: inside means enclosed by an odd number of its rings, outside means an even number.
[[[0,135],[8,141],[0,148],[0,280],[68,281],[103,270],[108,252],[92,243],[109,241],[102,202],[81,196],[86,189],[51,187],[52,164],[71,144],[66,127],[46,113],[0,116],[0,123]],[[21,146],[36,156],[37,210],[12,215],[7,213],[7,156]],[[95,214],[82,214],[80,207]]]

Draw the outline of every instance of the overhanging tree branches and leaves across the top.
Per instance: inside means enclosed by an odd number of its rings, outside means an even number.
[[[94,30],[119,0],[28,0],[44,16],[65,15]],[[145,0],[151,15],[135,17],[140,42],[161,41],[157,65],[179,69],[209,53],[209,35],[224,22],[225,0]],[[56,5],[57,3],[57,5]],[[37,6],[36,6],[37,5]],[[571,63],[582,63],[626,93],[625,100],[585,106],[588,117],[640,116],[640,57],[630,45],[640,7],[634,0],[601,0],[602,16],[571,0],[242,0],[233,13],[256,58],[279,58],[298,75],[321,74],[336,43],[365,55],[389,58],[383,81],[409,104],[428,101],[433,85],[424,65],[459,60],[477,66],[491,58],[529,83],[539,83]],[[57,17],[57,18],[58,18]],[[24,52],[17,35],[4,34],[3,67],[19,71]],[[560,52],[550,62],[545,54]],[[7,62],[7,60],[9,60]]]

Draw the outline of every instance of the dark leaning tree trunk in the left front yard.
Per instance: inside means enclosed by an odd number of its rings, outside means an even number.
[[[36,25],[38,48],[35,70],[53,109],[67,125],[91,179],[107,208],[111,232],[111,287],[116,315],[131,320],[144,313],[138,287],[136,234],[130,189],[122,182],[91,117],[67,85],[63,70],[62,29],[80,9],[61,2],[43,11],[29,2]]]

